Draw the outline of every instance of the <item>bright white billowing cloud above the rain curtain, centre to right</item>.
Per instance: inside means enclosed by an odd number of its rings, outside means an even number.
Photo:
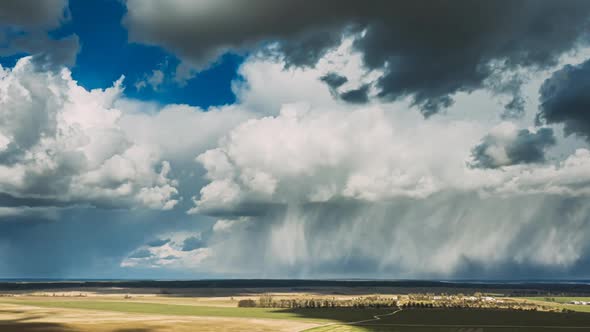
[[[378,107],[354,111],[285,106],[249,120],[197,157],[209,183],[191,213],[260,215],[285,204],[428,199],[445,192],[585,195],[588,150],[545,164],[550,128],[429,120]],[[264,143],[262,143],[264,142]],[[473,148],[475,146],[475,148]],[[452,147],[452,148],[449,148]],[[502,169],[499,169],[499,168]]]

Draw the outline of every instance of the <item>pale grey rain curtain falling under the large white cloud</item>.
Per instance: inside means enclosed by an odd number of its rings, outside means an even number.
[[[237,225],[209,247],[224,269],[272,277],[584,276],[586,200],[466,193],[307,204]]]

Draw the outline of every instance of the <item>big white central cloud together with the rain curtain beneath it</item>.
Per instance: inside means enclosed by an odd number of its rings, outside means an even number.
[[[467,105],[471,118],[425,121],[404,104],[289,104],[230,130],[196,159],[209,182],[191,212],[231,220],[214,224],[199,266],[302,278],[586,271],[590,151],[549,159],[563,144],[552,129],[482,121]],[[482,143],[493,163],[470,167]]]

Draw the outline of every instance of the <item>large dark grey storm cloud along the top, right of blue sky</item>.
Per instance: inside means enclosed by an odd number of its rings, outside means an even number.
[[[587,37],[590,13],[584,0],[128,0],[127,7],[131,40],[195,65],[264,41],[278,41],[288,65],[313,65],[338,44],[334,32],[364,30],[354,45],[369,69],[385,72],[378,96],[411,96],[425,115],[450,106],[456,92],[484,87],[497,70],[554,65]],[[519,100],[509,106],[518,110]]]

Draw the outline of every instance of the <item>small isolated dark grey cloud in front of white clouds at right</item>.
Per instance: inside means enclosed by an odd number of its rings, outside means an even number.
[[[528,129],[518,131],[514,139],[505,141],[493,135],[484,137],[472,150],[472,167],[497,168],[516,164],[539,163],[545,161],[545,150],[555,145],[553,129],[541,128],[537,132]],[[497,160],[490,148],[503,149],[508,160]]]

